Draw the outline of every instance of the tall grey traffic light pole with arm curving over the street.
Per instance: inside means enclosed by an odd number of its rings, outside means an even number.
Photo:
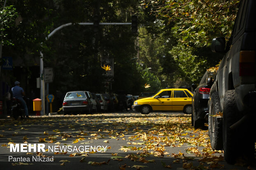
[[[77,23],[82,26],[92,26],[93,23]],[[57,33],[58,30],[65,28],[67,26],[71,26],[72,23],[66,23],[58,28],[55,28],[45,39],[48,40],[52,35]],[[99,25],[132,25],[132,23],[99,23]],[[42,111],[41,115],[45,115],[45,80],[44,80],[44,72],[43,72],[43,53],[40,51],[40,99],[42,100]]]

